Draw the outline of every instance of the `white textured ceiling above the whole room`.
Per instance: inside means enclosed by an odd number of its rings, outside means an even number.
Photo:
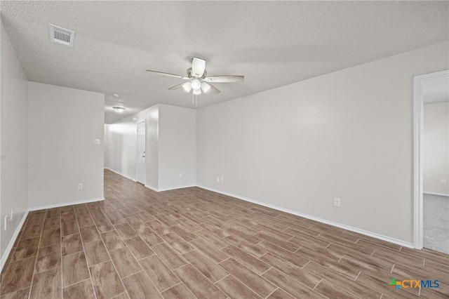
[[[1,20],[30,81],[105,93],[105,122],[164,103],[192,107],[179,79],[192,56],[215,84],[198,107],[448,40],[447,1],[1,1]],[[74,30],[53,44],[49,24]],[[112,109],[119,100],[124,114]]]

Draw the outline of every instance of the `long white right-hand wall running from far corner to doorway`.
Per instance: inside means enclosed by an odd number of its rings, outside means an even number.
[[[200,109],[197,183],[411,243],[413,76],[443,69],[448,43]]]

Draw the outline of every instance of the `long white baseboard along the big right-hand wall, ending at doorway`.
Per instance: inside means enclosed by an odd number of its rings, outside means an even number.
[[[324,224],[327,224],[327,225],[340,227],[343,230],[350,230],[351,232],[357,232],[358,234],[364,234],[364,235],[366,235],[368,237],[373,237],[375,239],[380,239],[380,240],[387,241],[387,242],[390,242],[390,243],[393,243],[393,244],[397,244],[397,245],[400,245],[400,246],[404,246],[404,247],[407,247],[407,248],[415,248],[413,246],[413,244],[410,243],[410,242],[401,241],[401,240],[398,240],[398,239],[394,239],[394,238],[391,238],[391,237],[384,236],[382,234],[376,234],[375,232],[368,232],[366,230],[361,230],[361,229],[358,229],[356,227],[351,227],[349,225],[342,225],[342,224],[340,224],[338,222],[333,222],[333,221],[329,221],[329,220],[326,220],[326,219],[321,219],[321,218],[318,218],[318,217],[315,217],[315,216],[299,213],[299,212],[296,212],[296,211],[291,211],[291,210],[288,210],[287,208],[281,208],[280,206],[273,206],[272,204],[266,204],[266,203],[264,203],[262,201],[255,201],[253,199],[248,199],[246,197],[240,197],[239,195],[236,195],[236,194],[232,194],[232,193],[228,193],[228,192],[222,192],[220,190],[215,190],[215,189],[212,189],[212,188],[209,188],[209,187],[204,187],[204,186],[197,186],[197,187],[200,187],[200,188],[212,191],[212,192],[217,192],[217,193],[220,193],[220,194],[223,194],[223,195],[227,195],[229,197],[235,197],[236,199],[241,199],[243,201],[249,201],[249,202],[252,202],[253,204],[258,204],[260,206],[266,206],[267,208],[273,208],[274,210],[277,210],[277,211],[289,213],[289,214],[292,214],[292,215],[297,215],[297,216],[300,216],[300,217],[303,217],[303,218],[307,218],[307,219],[310,219],[310,220],[315,220],[317,222],[321,222],[321,223],[324,223]]]

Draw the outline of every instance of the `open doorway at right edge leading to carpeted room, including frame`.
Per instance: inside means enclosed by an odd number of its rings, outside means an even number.
[[[415,248],[449,253],[449,71],[414,78]]]

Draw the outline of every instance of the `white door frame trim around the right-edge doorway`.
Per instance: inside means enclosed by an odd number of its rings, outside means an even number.
[[[422,98],[422,91],[424,83],[449,77],[449,70],[434,72],[430,74],[423,74],[413,78],[413,135],[414,135],[414,238],[413,245],[417,249],[422,249],[423,246],[423,192],[424,192],[424,176],[423,176],[423,122],[424,122],[424,100]]]

